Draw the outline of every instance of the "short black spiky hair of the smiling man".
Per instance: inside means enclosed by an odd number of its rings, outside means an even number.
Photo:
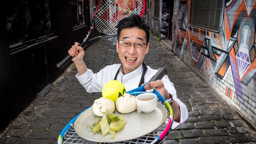
[[[130,17],[126,17],[120,20],[115,27],[117,28],[117,40],[119,41],[121,30],[124,28],[139,28],[146,32],[147,43],[149,41],[149,29],[150,26],[146,23],[143,18],[140,18],[139,15],[131,15]]]

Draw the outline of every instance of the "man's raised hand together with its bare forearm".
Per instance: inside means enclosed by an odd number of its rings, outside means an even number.
[[[83,63],[84,50],[79,45],[80,44],[78,42],[75,42],[75,44],[71,46],[68,52],[69,52],[69,55],[73,57],[72,61],[74,61],[79,75],[82,75],[87,71],[87,68]]]

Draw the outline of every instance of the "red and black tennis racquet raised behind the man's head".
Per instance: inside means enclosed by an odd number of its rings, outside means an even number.
[[[137,14],[140,17],[145,10],[145,0],[100,0],[96,6],[93,20],[88,34],[80,43],[80,46],[85,50],[88,44],[117,34],[117,23],[123,18],[129,17],[132,14]],[[93,30],[98,30],[102,35],[89,39]],[[59,63],[57,67],[62,69],[73,57],[67,55]]]

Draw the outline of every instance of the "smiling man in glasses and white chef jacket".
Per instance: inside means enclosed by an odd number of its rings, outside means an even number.
[[[126,91],[135,89],[143,83],[148,82],[157,70],[146,66],[143,63],[145,54],[149,49],[149,29],[145,20],[138,15],[132,15],[124,18],[117,24],[117,52],[122,64],[109,65],[93,74],[87,69],[83,62],[84,51],[78,42],[70,48],[69,54],[74,57],[72,61],[78,70],[76,78],[85,87],[87,92],[101,92],[103,86],[108,81],[116,79],[121,81]],[[171,105],[174,113],[174,129],[180,123],[184,122],[188,117],[187,107],[182,103],[176,95],[176,90],[168,76],[163,79],[152,81],[145,85],[146,90],[156,88],[166,100],[173,96]]]

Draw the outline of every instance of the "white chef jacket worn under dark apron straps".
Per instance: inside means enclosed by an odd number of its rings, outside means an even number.
[[[108,82],[115,78],[115,74],[117,70],[120,68],[121,64],[109,65],[102,68],[98,73],[94,74],[92,70],[87,69],[87,71],[82,74],[76,74],[76,78],[80,82],[81,85],[87,90],[87,92],[101,92],[103,86]],[[147,66],[147,72],[144,76],[144,83],[147,83],[158,70],[150,68]],[[129,90],[133,90],[138,87],[139,82],[141,80],[141,76],[143,73],[143,65],[141,64],[138,68],[129,72],[127,74],[122,73],[122,68],[120,68],[119,74],[117,75],[117,80],[121,81],[124,84],[126,92]],[[188,118],[187,107],[184,103],[182,103],[176,95],[176,90],[174,88],[173,83],[169,80],[168,76],[165,75],[162,79],[165,89],[173,94],[173,99],[180,106],[180,122],[173,122],[172,129],[177,127],[179,124],[185,122]]]

